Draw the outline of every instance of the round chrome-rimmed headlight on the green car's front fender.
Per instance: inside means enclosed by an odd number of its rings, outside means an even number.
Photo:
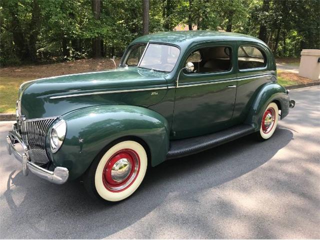
[[[65,120],[61,119],[57,123],[52,126],[51,134],[50,134],[50,145],[52,153],[56,152],[65,137],[66,132],[66,122]]]

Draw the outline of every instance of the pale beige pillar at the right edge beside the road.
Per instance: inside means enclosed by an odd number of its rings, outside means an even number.
[[[299,75],[318,80],[320,73],[320,49],[302,49]]]

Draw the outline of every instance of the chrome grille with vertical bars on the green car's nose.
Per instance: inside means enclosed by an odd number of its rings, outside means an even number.
[[[57,117],[28,119],[21,122],[21,137],[28,147],[31,161],[47,163],[49,158],[45,150],[45,136],[51,123]]]

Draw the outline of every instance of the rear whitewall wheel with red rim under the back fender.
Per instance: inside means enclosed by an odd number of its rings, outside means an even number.
[[[271,102],[267,105],[262,115],[260,130],[257,132],[259,140],[266,140],[273,135],[278,123],[279,109],[276,103]]]

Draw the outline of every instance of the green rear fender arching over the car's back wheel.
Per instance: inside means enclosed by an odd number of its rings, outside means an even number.
[[[277,83],[267,83],[262,86],[254,99],[245,123],[251,124],[255,130],[259,130],[263,112],[272,101],[280,104],[281,119],[289,113],[289,96],[285,88]]]

